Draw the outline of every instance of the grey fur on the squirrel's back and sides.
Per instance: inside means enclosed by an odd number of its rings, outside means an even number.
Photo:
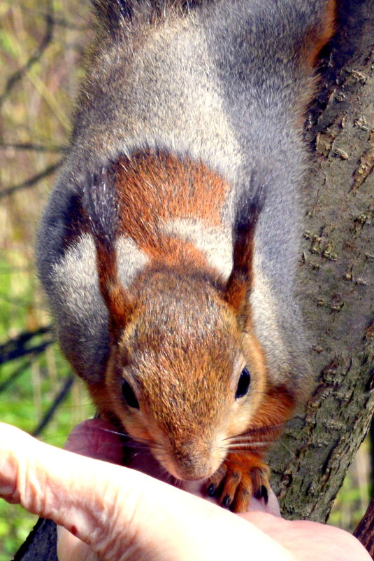
[[[104,9],[108,4],[111,15]],[[38,268],[59,341],[83,378],[101,377],[107,314],[97,288],[94,246],[86,237],[66,254],[62,249],[71,193],[80,193],[87,174],[117,155],[165,148],[203,160],[231,183],[226,232],[243,193],[250,196],[252,188],[266,185],[255,235],[254,324],[273,381],[291,378],[300,389],[309,376],[295,298],[306,159],[294,123],[310,78],[298,53],[308,29],[323,17],[326,1],[161,4],[160,11],[159,2],[99,1],[99,46],[82,84],[71,150],[38,233]],[[129,8],[131,17],[129,11],[116,12],[122,8]],[[173,228],[183,230],[180,224]],[[222,244],[212,232],[201,235],[196,225],[186,227],[185,235],[208,252],[210,263],[222,259],[227,275],[230,243]],[[128,241],[117,251],[126,284],[145,256]]]

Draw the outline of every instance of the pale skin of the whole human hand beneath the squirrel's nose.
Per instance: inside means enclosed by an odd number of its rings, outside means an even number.
[[[67,446],[95,459],[0,423],[0,496],[63,527],[59,561],[371,560],[343,530],[271,514],[277,508],[273,497],[267,512],[257,501],[251,507],[257,510],[235,515],[135,469],[96,459],[119,462],[122,454],[117,436],[99,420],[78,426]]]

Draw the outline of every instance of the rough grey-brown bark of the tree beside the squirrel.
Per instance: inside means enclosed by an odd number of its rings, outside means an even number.
[[[283,514],[323,522],[374,409],[374,0],[340,0],[321,74],[300,270],[318,378],[271,468]],[[54,561],[54,532],[39,524],[15,559]]]

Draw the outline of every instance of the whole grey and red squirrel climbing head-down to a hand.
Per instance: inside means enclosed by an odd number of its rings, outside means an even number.
[[[335,0],[92,0],[38,231],[99,414],[235,512],[311,378],[296,298],[305,109]]]

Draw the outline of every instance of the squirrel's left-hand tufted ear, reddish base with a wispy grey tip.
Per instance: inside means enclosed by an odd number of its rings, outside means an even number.
[[[109,312],[109,332],[113,342],[128,323],[134,303],[120,281],[115,237],[118,222],[116,174],[113,167],[102,167],[89,174],[82,191],[83,208],[96,247],[96,266],[101,296]]]

